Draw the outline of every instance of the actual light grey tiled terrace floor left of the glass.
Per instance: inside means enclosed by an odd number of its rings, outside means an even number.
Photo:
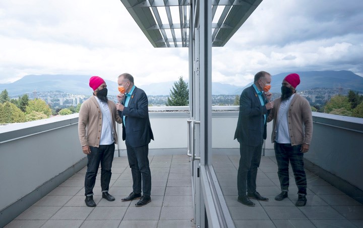
[[[115,201],[101,197],[98,175],[94,188],[97,206],[86,206],[84,168],[6,227],[195,227],[189,157],[154,156],[149,160],[151,202],[143,207],[135,207],[136,200],[121,201],[132,192],[131,169],[127,158],[121,157],[112,164],[109,193]]]

